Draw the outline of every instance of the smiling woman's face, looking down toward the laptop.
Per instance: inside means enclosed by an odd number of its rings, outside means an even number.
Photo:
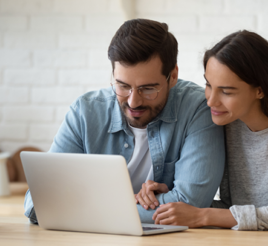
[[[225,125],[237,119],[246,123],[260,112],[262,89],[242,81],[216,58],[209,58],[204,77],[205,97],[215,124]]]

